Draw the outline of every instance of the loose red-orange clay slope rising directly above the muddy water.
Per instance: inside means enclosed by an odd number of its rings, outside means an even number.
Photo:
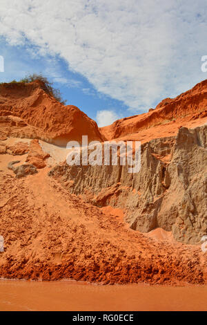
[[[6,250],[0,253],[1,277],[207,283],[207,261],[199,246],[157,241],[130,230],[119,213],[104,213],[68,194],[48,177],[47,168],[14,178],[6,170],[10,156],[3,158],[0,229]]]

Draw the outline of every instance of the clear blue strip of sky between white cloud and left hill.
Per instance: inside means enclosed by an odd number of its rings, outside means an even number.
[[[105,111],[106,115],[106,111],[110,111],[108,118],[112,120],[126,115],[126,104],[99,93],[86,77],[70,71],[67,62],[59,55],[39,55],[37,48],[29,42],[26,46],[11,46],[4,37],[0,38],[0,48],[4,58],[4,73],[0,73],[0,82],[20,80],[30,73],[42,73],[55,88],[60,89],[66,104],[78,106],[93,120],[97,120],[99,111]],[[131,115],[130,111],[128,115]]]

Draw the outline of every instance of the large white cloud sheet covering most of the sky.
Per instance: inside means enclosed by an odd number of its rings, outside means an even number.
[[[206,0],[1,0],[0,35],[139,111],[206,78],[206,16]]]

